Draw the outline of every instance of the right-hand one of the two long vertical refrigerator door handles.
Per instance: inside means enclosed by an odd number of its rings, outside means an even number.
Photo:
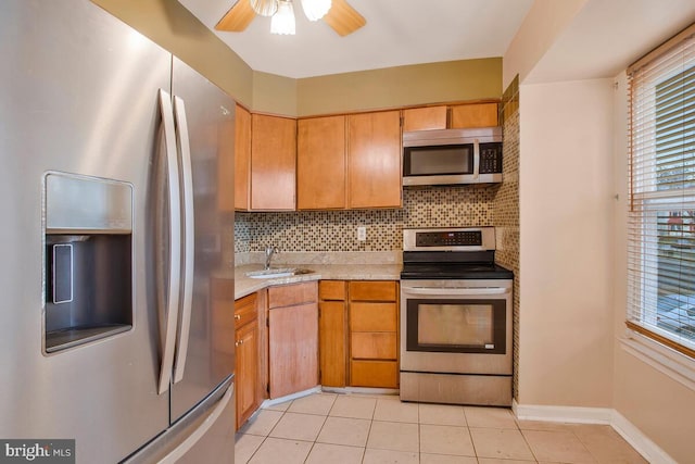
[[[184,208],[184,288],[181,296],[181,311],[178,324],[178,341],[176,343],[176,360],[174,363],[174,384],[184,378],[186,358],[188,355],[188,337],[191,326],[191,306],[193,300],[193,256],[195,223],[193,218],[193,177],[191,166],[191,149],[188,138],[188,122],[186,105],[180,97],[174,96],[174,116],[176,121],[177,147],[180,155],[180,183],[182,186]]]

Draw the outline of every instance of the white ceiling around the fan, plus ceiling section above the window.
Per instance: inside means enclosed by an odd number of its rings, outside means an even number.
[[[291,78],[503,57],[534,3],[348,0],[367,24],[340,37],[323,21],[309,22],[294,0],[294,36],[270,34],[262,16],[243,33],[214,30],[236,1],[179,0],[253,70]],[[614,77],[693,22],[695,0],[584,0],[525,83]]]

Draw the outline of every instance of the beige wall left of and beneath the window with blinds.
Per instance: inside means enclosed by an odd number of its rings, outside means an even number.
[[[616,78],[615,92],[615,188],[619,196],[615,214],[615,402],[614,407],[679,463],[692,462],[695,391],[626,350],[627,305],[627,77]],[[675,375],[678,377],[678,375]]]

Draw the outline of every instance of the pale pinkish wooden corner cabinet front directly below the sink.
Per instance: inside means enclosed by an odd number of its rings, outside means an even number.
[[[268,289],[269,397],[318,385],[317,283]]]

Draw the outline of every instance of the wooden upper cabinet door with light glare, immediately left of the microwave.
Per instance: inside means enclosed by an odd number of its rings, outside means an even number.
[[[350,208],[401,208],[401,112],[351,114]]]

